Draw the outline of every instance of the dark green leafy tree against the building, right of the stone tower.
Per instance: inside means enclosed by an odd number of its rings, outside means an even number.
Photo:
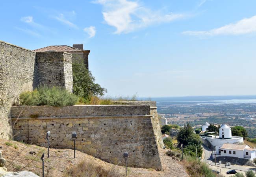
[[[73,93],[80,98],[80,102],[89,101],[91,96],[103,96],[107,89],[95,83],[95,77],[88,71],[85,64],[72,63]]]

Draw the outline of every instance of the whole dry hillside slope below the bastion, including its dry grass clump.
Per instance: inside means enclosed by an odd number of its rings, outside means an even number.
[[[47,158],[45,147],[23,144],[16,141],[0,140],[0,150],[7,160],[8,171],[28,170],[42,176],[42,161],[45,153],[45,177],[124,177],[125,168],[109,164],[91,155],[72,149],[50,149]],[[164,171],[153,169],[128,168],[129,177],[188,177],[186,170],[178,160],[165,155],[160,149],[160,157]],[[129,159],[128,159],[129,163]]]

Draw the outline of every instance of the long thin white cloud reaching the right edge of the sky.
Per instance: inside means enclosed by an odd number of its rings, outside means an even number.
[[[256,32],[256,15],[244,18],[236,23],[228,24],[220,28],[209,31],[184,31],[183,34],[195,36],[215,36],[215,35],[242,35]]]

